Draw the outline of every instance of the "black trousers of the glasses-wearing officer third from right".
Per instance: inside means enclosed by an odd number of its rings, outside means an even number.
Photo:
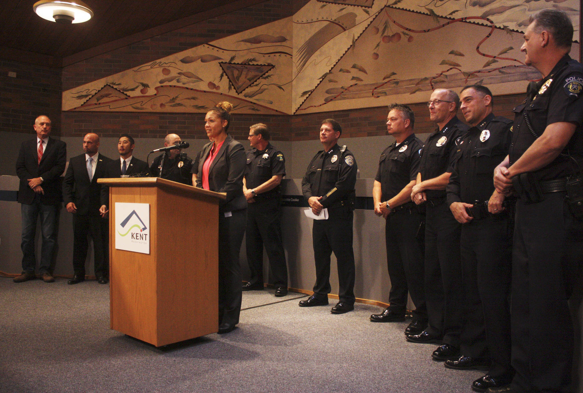
[[[427,332],[459,347],[462,325],[461,224],[447,203],[427,201],[425,211],[425,299]]]

